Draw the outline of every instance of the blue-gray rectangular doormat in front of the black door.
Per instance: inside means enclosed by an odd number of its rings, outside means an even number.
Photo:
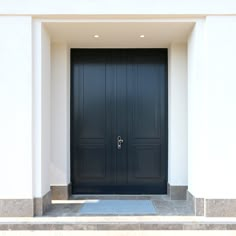
[[[150,200],[98,200],[86,202],[81,215],[156,215]]]

